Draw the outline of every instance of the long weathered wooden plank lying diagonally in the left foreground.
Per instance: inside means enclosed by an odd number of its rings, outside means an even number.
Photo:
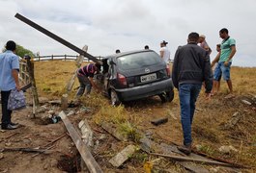
[[[74,142],[77,150],[79,151],[81,158],[83,161],[85,161],[85,164],[87,165],[88,169],[92,173],[100,173],[102,172],[100,165],[97,161],[95,161],[94,157],[90,153],[90,150],[86,146],[86,144],[82,141],[81,137],[78,135],[76,130],[71,124],[71,121],[67,117],[64,111],[61,111],[59,113],[59,116],[62,118],[63,123],[65,124],[72,141]]]

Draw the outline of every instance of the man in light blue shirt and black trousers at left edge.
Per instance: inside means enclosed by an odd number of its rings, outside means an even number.
[[[18,82],[19,63],[15,53],[16,44],[13,40],[6,43],[6,51],[0,54],[0,90],[2,101],[2,124],[3,130],[13,130],[17,124],[11,121],[12,111],[7,109],[11,90],[20,90]]]

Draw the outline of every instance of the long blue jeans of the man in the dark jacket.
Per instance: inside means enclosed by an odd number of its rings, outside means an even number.
[[[195,102],[201,90],[201,84],[179,85],[181,120],[184,132],[184,144],[192,143],[191,125],[195,111]]]

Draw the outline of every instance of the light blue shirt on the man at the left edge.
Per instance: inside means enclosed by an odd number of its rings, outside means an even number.
[[[18,57],[13,51],[7,50],[0,54],[0,90],[8,91],[15,88],[12,75],[13,69],[19,69]]]

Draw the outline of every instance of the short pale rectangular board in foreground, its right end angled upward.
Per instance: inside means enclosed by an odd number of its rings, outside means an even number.
[[[112,158],[109,162],[115,166],[121,166],[128,158],[136,151],[136,147],[134,145],[128,145],[124,150],[118,153],[114,158]]]

